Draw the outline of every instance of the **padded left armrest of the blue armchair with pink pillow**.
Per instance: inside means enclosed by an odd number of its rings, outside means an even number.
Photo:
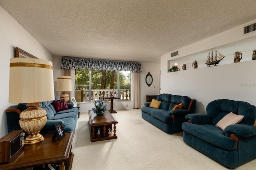
[[[193,124],[204,125],[211,124],[212,118],[207,114],[193,113],[186,115],[186,119]]]

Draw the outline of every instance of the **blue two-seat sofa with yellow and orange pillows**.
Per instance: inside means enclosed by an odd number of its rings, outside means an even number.
[[[160,107],[149,107],[151,102],[146,102],[145,107],[141,108],[142,118],[166,133],[182,131],[181,125],[186,121],[185,115],[196,110],[196,100],[191,100],[188,96],[160,94],[156,100],[161,101]],[[174,106],[181,103],[182,109],[173,110]]]

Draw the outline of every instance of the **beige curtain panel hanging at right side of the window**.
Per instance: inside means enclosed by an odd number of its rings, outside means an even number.
[[[139,72],[133,72],[133,96],[134,96],[134,100],[133,100],[133,108],[134,109],[138,109],[139,108],[139,99],[140,99],[140,93],[139,93],[139,82],[140,82],[140,73]]]

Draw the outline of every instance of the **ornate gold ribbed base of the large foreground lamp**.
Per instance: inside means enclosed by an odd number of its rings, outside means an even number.
[[[25,139],[26,145],[32,145],[44,141],[44,137],[39,133],[46,124],[46,111],[38,107],[40,103],[27,104],[28,109],[20,113],[20,127],[28,137]]]

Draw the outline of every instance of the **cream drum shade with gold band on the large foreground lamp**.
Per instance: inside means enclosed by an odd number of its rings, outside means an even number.
[[[54,100],[52,62],[32,58],[11,58],[9,103]]]

